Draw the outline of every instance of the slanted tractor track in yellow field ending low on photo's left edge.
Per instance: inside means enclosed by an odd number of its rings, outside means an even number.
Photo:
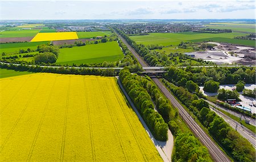
[[[17,120],[15,121],[13,127],[11,127],[11,130],[9,131],[9,133],[8,133],[8,135],[7,135],[7,137],[6,137],[6,139],[5,139],[4,142],[3,142],[3,145],[2,145],[1,148],[0,148],[0,153],[3,151],[3,148],[5,147],[5,144],[8,142],[9,138],[11,137],[11,134],[13,134],[13,131],[14,131],[15,127],[18,125],[18,122],[20,121],[20,119],[22,118],[24,112],[26,111],[28,104],[30,104],[29,101],[34,97],[34,94],[35,94],[36,90],[38,89],[38,87],[39,87],[40,83],[42,82],[42,80],[43,80],[43,79],[41,78],[40,81],[38,82],[36,88],[34,89],[34,91],[33,91],[32,94],[31,94],[30,99],[27,100],[27,103],[26,103],[25,107],[23,108],[22,112],[19,114],[19,117],[18,117]],[[22,86],[22,87],[23,87],[23,86]]]

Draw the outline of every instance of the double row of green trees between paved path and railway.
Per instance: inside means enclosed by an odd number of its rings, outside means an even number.
[[[156,139],[167,140],[170,127],[176,137],[172,160],[212,161],[207,148],[191,132],[184,130],[187,126],[181,121],[177,110],[168,103],[150,78],[131,74],[127,68],[120,71],[119,77]]]

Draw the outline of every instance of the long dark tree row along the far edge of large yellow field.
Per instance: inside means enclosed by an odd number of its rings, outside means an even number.
[[[57,74],[80,74],[80,75],[102,75],[102,76],[116,76],[117,73],[114,69],[89,69],[86,67],[40,67],[28,65],[6,65],[0,64],[1,68],[12,69],[18,71],[31,71],[31,72],[44,72],[44,73],[57,73]]]

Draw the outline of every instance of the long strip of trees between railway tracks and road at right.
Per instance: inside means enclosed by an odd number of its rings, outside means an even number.
[[[197,99],[195,94],[182,87],[177,87],[167,80],[163,83],[169,88],[199,121],[209,130],[210,135],[232,155],[234,161],[254,161],[255,150],[253,146],[240,134],[232,129],[221,117],[209,109],[209,104],[204,99]],[[189,95],[190,94],[190,95]],[[184,99],[187,98],[187,99]]]

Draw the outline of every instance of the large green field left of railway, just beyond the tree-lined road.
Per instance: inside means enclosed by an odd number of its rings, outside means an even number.
[[[73,48],[60,49],[56,63],[73,65],[73,63],[102,63],[104,61],[118,61],[123,53],[117,42],[106,42]]]

